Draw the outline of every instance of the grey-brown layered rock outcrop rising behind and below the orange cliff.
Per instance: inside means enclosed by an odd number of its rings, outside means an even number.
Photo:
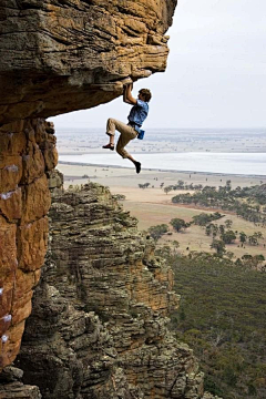
[[[192,350],[167,315],[178,303],[153,243],[96,184],[55,196],[50,250],[18,365],[45,399],[202,398]]]

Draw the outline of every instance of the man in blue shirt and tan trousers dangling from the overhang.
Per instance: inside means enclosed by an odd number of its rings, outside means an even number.
[[[149,113],[149,101],[152,94],[149,89],[142,89],[139,92],[137,99],[131,94],[133,82],[129,78],[124,82],[123,101],[132,104],[131,112],[127,116],[129,123],[125,124],[117,120],[110,117],[108,120],[106,134],[110,136],[110,142],[103,145],[103,149],[114,150],[114,134],[115,130],[120,132],[120,139],[116,144],[116,152],[123,157],[129,158],[135,165],[136,173],[141,172],[141,163],[135,161],[132,155],[125,151],[125,145],[133,139],[137,137],[141,132],[141,126]]]

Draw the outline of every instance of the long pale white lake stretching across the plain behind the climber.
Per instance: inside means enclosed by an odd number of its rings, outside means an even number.
[[[104,166],[132,166],[115,152],[104,154],[61,155],[60,162]],[[266,175],[266,153],[157,153],[133,154],[143,168],[180,172],[205,172],[237,175]]]

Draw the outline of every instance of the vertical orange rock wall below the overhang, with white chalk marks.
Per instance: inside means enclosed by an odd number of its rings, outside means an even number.
[[[0,370],[20,348],[48,241],[47,173],[58,154],[44,120],[0,127]]]

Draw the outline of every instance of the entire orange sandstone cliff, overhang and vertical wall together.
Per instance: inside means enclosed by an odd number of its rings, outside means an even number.
[[[0,0],[0,370],[20,348],[47,248],[52,126],[164,71],[176,0]]]

